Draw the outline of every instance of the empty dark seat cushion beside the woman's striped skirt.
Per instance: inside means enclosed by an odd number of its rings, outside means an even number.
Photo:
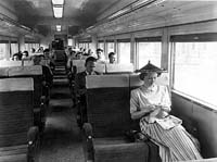
[[[95,162],[144,162],[149,158],[149,146],[129,142],[124,137],[93,139]]]

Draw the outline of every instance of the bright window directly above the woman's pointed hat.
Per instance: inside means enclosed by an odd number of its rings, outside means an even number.
[[[149,61],[161,67],[162,41],[161,37],[139,38],[137,41],[138,67],[141,68]]]

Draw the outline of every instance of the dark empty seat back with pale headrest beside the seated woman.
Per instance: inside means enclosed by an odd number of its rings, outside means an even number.
[[[87,116],[95,137],[120,136],[129,129],[129,76],[86,77]]]

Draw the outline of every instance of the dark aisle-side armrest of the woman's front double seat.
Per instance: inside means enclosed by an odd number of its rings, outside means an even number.
[[[85,123],[82,126],[84,130],[84,149],[86,153],[87,161],[93,161],[94,150],[93,150],[93,138],[92,138],[92,126],[90,123]]]

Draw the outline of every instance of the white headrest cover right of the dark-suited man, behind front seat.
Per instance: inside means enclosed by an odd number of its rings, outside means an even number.
[[[106,74],[123,74],[123,73],[132,73],[133,72],[133,64],[105,64],[105,73]]]

